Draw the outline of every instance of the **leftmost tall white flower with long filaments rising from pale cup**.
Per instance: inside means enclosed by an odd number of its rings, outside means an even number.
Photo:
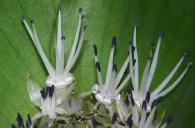
[[[70,73],[76,59],[79,56],[81,47],[84,40],[84,35],[86,33],[86,26],[82,23],[82,9],[79,10],[78,25],[76,30],[75,39],[67,60],[66,66],[64,66],[64,52],[65,52],[65,37],[62,35],[62,25],[61,25],[61,12],[58,11],[58,27],[57,27],[57,43],[56,43],[56,68],[54,69],[50,63],[48,57],[46,56],[41,43],[39,41],[35,23],[32,21],[32,30],[27,24],[25,18],[22,19],[26,30],[28,31],[37,51],[47,69],[49,74],[46,85],[54,85],[56,91],[56,101],[60,104],[64,98],[66,98],[74,89],[74,76]],[[35,87],[36,88],[36,87]],[[30,93],[31,94],[31,93]]]

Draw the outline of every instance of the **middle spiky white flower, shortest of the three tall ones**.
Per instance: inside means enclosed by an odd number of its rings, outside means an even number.
[[[130,79],[130,75],[127,75],[127,77],[121,82],[124,72],[129,64],[129,57],[127,57],[118,75],[116,75],[117,65],[113,63],[116,41],[117,41],[116,37],[113,37],[112,38],[112,49],[110,52],[110,57],[109,57],[108,67],[107,67],[107,74],[106,74],[106,79],[104,83],[102,80],[101,68],[100,68],[100,64],[98,61],[98,57],[97,57],[97,47],[96,45],[93,45],[98,83],[94,85],[92,92],[95,94],[95,98],[99,102],[105,105],[110,105],[112,101],[120,99],[119,93],[122,90],[122,88],[127,84],[128,80]]]

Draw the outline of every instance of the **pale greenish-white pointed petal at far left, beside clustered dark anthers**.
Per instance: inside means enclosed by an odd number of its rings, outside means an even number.
[[[32,103],[38,107],[41,105],[41,94],[40,94],[40,87],[37,83],[32,80],[31,76],[28,75],[27,79],[27,91],[30,96]]]

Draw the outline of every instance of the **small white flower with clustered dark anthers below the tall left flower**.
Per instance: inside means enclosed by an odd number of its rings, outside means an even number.
[[[42,89],[36,84],[35,81],[29,76],[27,81],[27,90],[30,95],[30,99],[34,105],[41,109],[32,117],[32,120],[36,120],[43,116],[49,116],[51,119],[57,118],[60,114],[71,114],[81,108],[82,101],[79,97],[71,95],[61,103],[56,101],[56,90],[55,86],[45,86]]]

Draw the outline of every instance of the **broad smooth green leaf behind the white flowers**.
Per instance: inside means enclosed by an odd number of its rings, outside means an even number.
[[[133,23],[138,22],[138,52],[142,74],[150,43],[156,43],[158,32],[164,32],[152,89],[176,64],[186,49],[187,62],[195,63],[195,1],[194,0],[1,0],[0,1],[0,127],[10,127],[17,112],[35,114],[26,91],[26,77],[31,74],[44,85],[46,70],[33,46],[21,16],[34,19],[42,46],[54,64],[57,9],[61,6],[63,32],[69,54],[76,30],[78,9],[86,13],[88,33],[73,74],[78,93],[89,91],[96,82],[92,44],[98,46],[103,71],[106,70],[111,38],[118,37],[115,61],[121,67],[127,56]],[[104,72],[105,74],[105,72]],[[179,86],[160,104],[158,113],[166,110],[173,117],[172,128],[195,127],[195,67]],[[158,114],[157,113],[157,114]]]

